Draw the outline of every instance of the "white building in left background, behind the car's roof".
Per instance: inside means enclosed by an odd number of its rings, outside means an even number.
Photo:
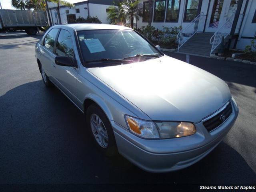
[[[74,23],[76,18],[98,17],[102,23],[109,23],[106,9],[113,5],[114,0],[84,0],[74,3],[74,7],[60,6],[61,24]],[[57,4],[48,2],[52,24],[59,24]]]

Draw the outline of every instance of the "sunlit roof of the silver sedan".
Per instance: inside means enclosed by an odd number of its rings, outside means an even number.
[[[110,25],[110,24],[96,24],[96,23],[81,23],[81,24],[66,24],[66,25],[54,25],[54,27],[60,27],[60,28],[73,28],[76,31],[83,31],[83,30],[100,30],[100,29],[130,29],[125,26],[120,25]]]

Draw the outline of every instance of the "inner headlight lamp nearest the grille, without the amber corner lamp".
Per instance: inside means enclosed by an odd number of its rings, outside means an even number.
[[[193,135],[196,127],[190,122],[156,122],[160,138],[178,138]]]

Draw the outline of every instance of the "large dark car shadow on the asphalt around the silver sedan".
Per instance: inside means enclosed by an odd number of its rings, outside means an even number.
[[[225,142],[196,164],[153,174],[120,155],[102,156],[90,142],[83,113],[42,80],[0,97],[2,183],[255,183],[256,174]],[[242,140],[242,138],[240,138]]]

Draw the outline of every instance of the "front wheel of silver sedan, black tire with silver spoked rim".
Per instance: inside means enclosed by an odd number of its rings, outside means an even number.
[[[98,128],[96,128],[97,118],[99,118]],[[94,146],[100,152],[108,157],[115,156],[118,153],[112,126],[105,113],[97,104],[92,104],[88,107],[86,112],[86,126],[90,138],[94,142]]]

